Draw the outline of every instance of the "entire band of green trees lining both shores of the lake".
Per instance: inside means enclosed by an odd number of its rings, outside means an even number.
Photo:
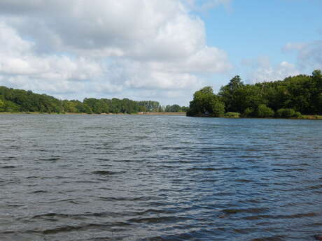
[[[0,112],[137,113],[187,112],[200,117],[302,117],[322,115],[322,73],[296,75],[284,80],[244,84],[239,75],[214,94],[204,87],[193,95],[190,107],[161,106],[158,101],[129,98],[59,100],[46,94],[0,87]]]

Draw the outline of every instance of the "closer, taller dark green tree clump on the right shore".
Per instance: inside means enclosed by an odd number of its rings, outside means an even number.
[[[284,80],[244,84],[239,75],[214,94],[204,87],[193,95],[188,116],[302,117],[322,115],[322,74],[295,75]]]

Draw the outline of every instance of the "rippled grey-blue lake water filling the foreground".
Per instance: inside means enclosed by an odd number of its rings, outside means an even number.
[[[0,116],[0,240],[314,240],[322,122]]]

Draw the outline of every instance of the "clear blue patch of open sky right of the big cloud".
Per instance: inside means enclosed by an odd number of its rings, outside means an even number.
[[[296,65],[298,53],[284,47],[288,43],[320,40],[321,10],[322,1],[318,0],[235,0],[197,15],[205,23],[207,44],[228,53],[234,65],[229,74],[241,75],[247,82],[251,76],[244,59],[266,57],[273,66],[282,61]],[[307,74],[313,70],[310,66],[299,69]]]

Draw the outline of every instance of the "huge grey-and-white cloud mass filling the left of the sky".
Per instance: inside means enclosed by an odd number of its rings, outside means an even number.
[[[229,1],[200,6],[221,3]],[[197,3],[2,0],[0,84],[52,94],[200,87],[199,73],[223,73],[231,64],[207,46],[191,6]]]

